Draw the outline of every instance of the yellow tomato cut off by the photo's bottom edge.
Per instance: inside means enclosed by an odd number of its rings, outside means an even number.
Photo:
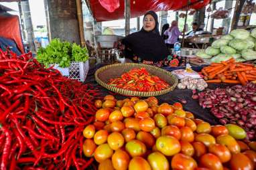
[[[166,157],[159,152],[153,152],[147,157],[147,161],[152,170],[169,170],[169,162]]]

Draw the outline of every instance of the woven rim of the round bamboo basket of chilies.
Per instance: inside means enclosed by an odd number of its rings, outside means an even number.
[[[168,76],[171,76],[174,79],[174,84],[172,84],[172,86],[170,86],[169,88],[166,88],[164,90],[159,90],[159,91],[154,91],[154,92],[139,92],[139,91],[125,90],[123,88],[116,88],[115,86],[111,86],[99,79],[98,75],[100,72],[103,72],[104,70],[107,70],[109,68],[115,68],[115,67],[120,67],[120,66],[136,66],[136,67],[143,67],[143,68],[150,68],[153,70],[157,70],[159,72],[167,74]],[[174,90],[174,88],[176,88],[176,86],[178,84],[178,78],[171,72],[168,72],[168,71],[166,71],[162,68],[158,68],[156,66],[151,66],[148,64],[137,64],[137,63],[110,64],[107,66],[103,66],[95,72],[94,77],[95,77],[96,82],[98,84],[100,84],[101,86],[103,86],[104,88],[107,88],[108,90],[111,90],[113,92],[117,92],[119,94],[124,94],[124,95],[128,95],[128,96],[159,96],[159,95],[166,94],[166,93]]]

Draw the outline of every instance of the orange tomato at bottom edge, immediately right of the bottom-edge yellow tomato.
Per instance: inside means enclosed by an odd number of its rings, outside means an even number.
[[[176,170],[194,170],[197,167],[196,161],[185,154],[178,153],[172,158],[172,169]]]

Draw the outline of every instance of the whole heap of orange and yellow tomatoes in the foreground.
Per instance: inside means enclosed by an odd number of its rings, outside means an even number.
[[[158,104],[155,97],[97,100],[94,124],[85,127],[83,152],[99,169],[256,168],[256,142],[235,124],[210,126],[182,104]]]

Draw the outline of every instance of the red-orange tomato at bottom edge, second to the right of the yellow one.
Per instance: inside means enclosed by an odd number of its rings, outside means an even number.
[[[200,165],[212,170],[222,170],[223,166],[220,159],[212,153],[206,153],[200,158]]]

